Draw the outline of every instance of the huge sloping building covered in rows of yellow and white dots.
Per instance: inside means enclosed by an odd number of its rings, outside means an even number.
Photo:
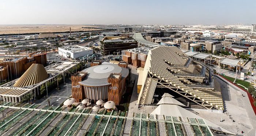
[[[205,109],[223,110],[221,87],[218,81],[212,79],[211,71],[208,66],[192,60],[175,46],[153,48],[148,51],[143,73],[140,73],[144,84],[137,104],[151,104],[155,88],[161,86]]]

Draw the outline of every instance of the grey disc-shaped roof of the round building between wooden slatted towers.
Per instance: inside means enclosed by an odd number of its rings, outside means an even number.
[[[121,73],[121,80],[126,78],[129,74],[129,70],[120,67],[116,64],[103,63],[102,65],[89,67],[84,69],[83,72],[87,72],[87,76],[79,84],[84,86],[106,86],[108,83],[108,77],[111,73]]]

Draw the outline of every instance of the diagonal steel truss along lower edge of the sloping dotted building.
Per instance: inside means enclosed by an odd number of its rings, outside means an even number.
[[[146,80],[148,80],[148,79],[155,80],[159,84],[159,85],[157,85],[157,88],[168,88],[168,89],[172,90],[173,92],[180,94],[181,96],[187,98],[188,100],[195,102],[196,104],[198,104],[206,109],[216,108],[218,110],[221,110],[221,109],[217,108],[216,106],[212,106],[212,105],[206,103],[205,101],[202,101],[199,98],[177,88],[176,86],[171,85],[170,83],[164,81],[163,79],[160,79],[160,78],[154,76],[153,74],[150,74],[149,72],[147,74]],[[149,83],[147,83],[147,84],[149,85]],[[213,90],[214,89],[214,88],[199,88],[199,87],[190,87],[190,88],[193,88],[196,90]],[[144,95],[144,94],[142,94],[142,95]]]

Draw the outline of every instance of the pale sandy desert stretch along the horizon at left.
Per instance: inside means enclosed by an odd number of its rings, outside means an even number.
[[[0,25],[1,34],[25,34],[25,33],[39,33],[39,32],[66,32],[69,31],[94,31],[100,29],[82,28],[82,27],[97,27],[97,26],[83,26],[83,25]]]

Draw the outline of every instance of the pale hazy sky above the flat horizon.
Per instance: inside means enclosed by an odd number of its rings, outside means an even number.
[[[255,24],[255,5],[255,0],[1,0],[0,24]]]

